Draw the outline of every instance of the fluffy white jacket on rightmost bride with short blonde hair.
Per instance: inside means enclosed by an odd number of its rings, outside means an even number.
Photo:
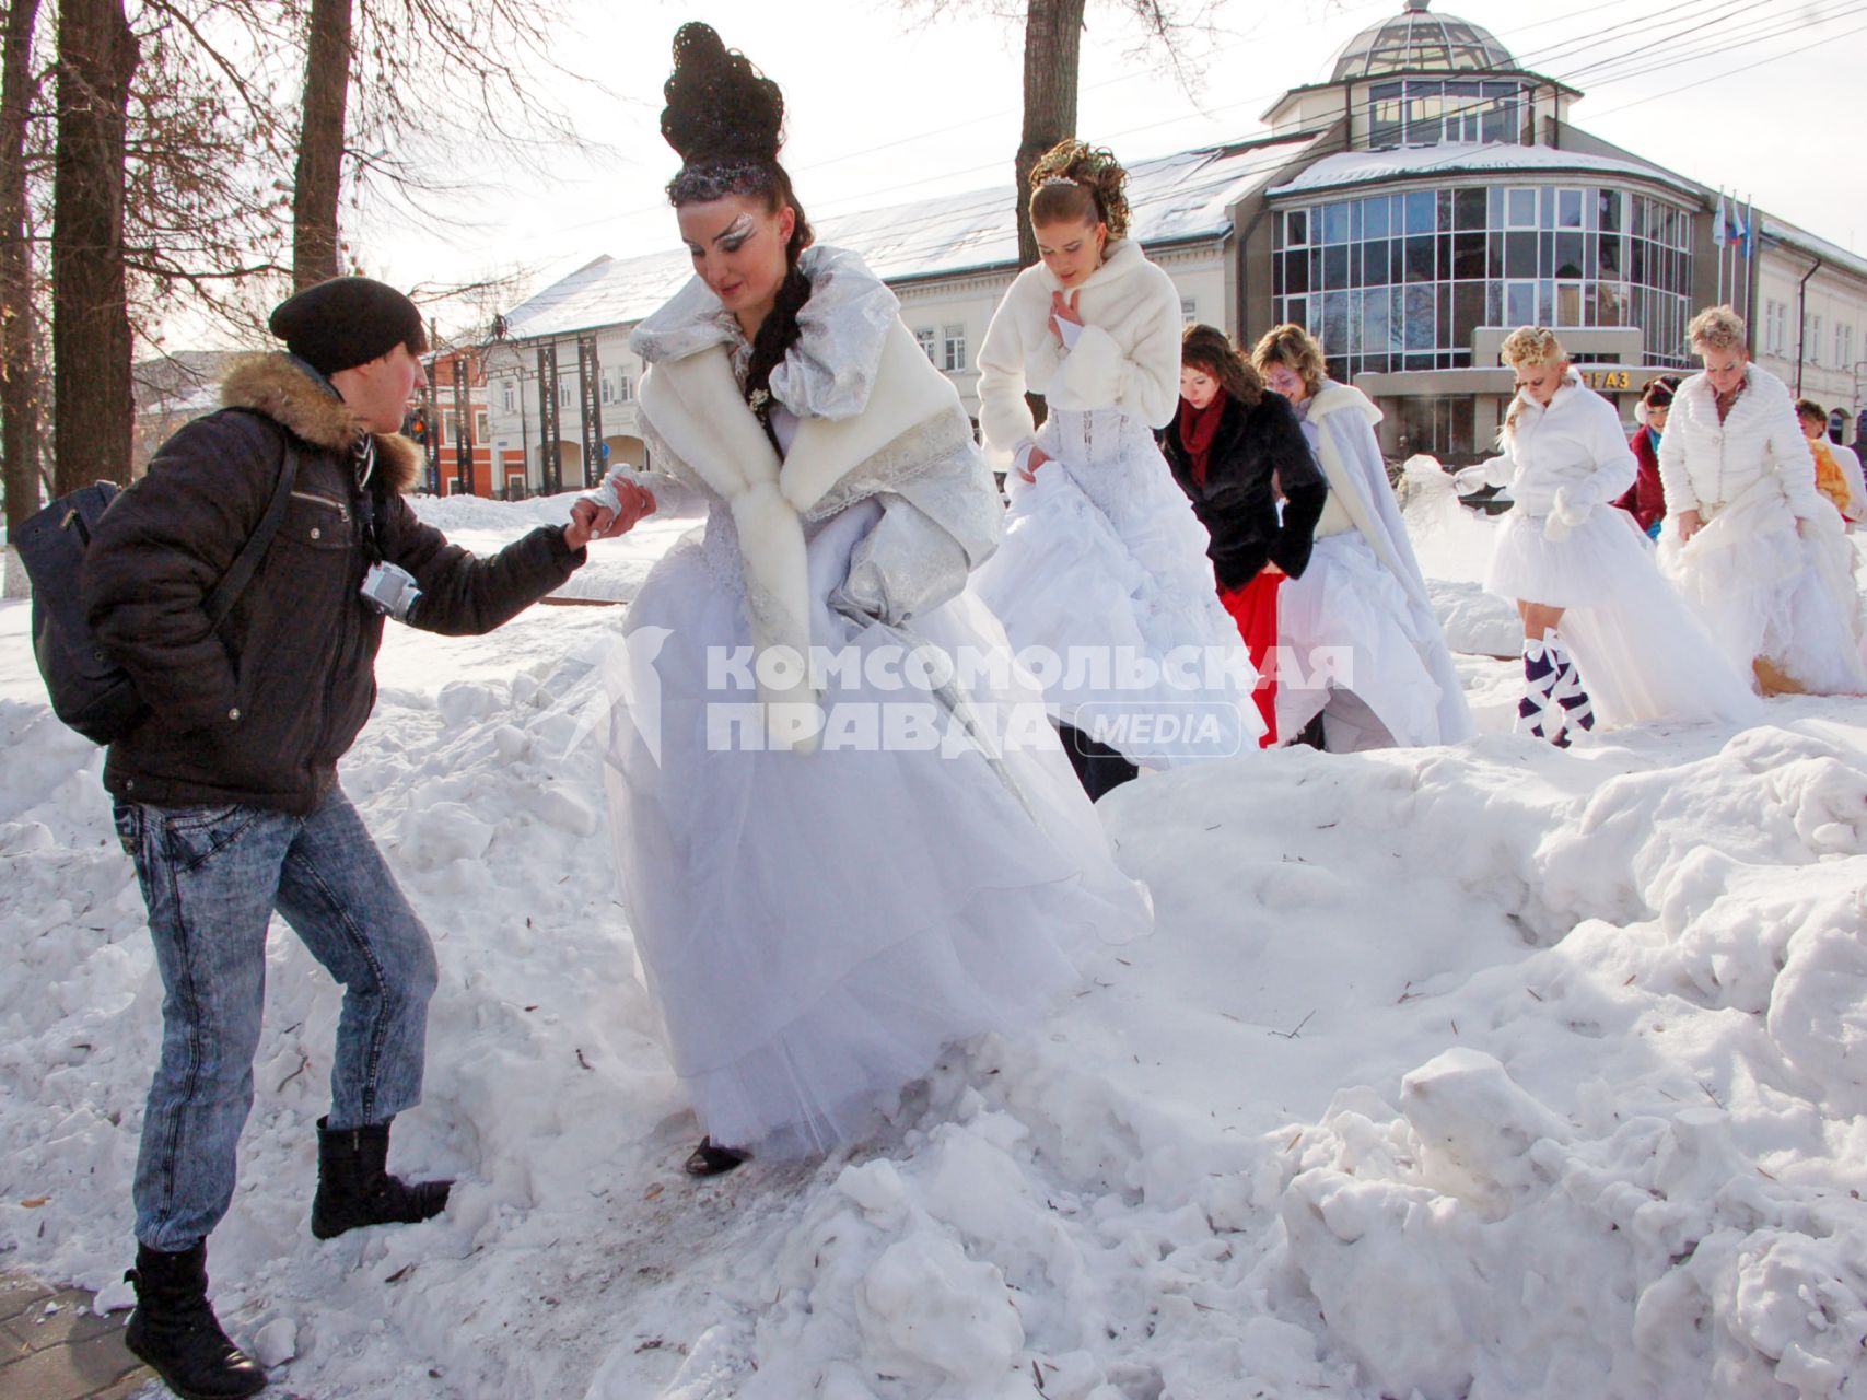
[[[1815,489],[1815,457],[1789,386],[1755,364],[1746,368],[1744,392],[1723,422],[1710,379],[1695,373],[1680,385],[1660,439],[1660,480],[1667,515],[1714,513],[1759,491],[1779,495],[1798,521],[1824,532],[1839,526],[1833,506]]]

